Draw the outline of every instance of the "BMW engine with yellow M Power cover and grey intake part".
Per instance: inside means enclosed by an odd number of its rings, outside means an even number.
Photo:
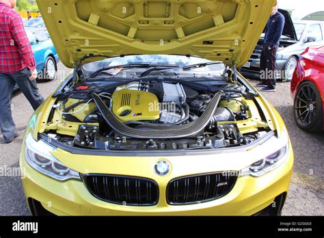
[[[179,83],[130,83],[113,92],[111,109],[120,121],[129,124],[143,120],[173,124],[186,118],[187,103],[198,95]]]

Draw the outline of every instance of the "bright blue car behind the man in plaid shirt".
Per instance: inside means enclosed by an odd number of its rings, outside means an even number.
[[[52,81],[56,77],[59,57],[51,38],[43,30],[26,32],[36,60],[38,79]],[[18,90],[18,85],[14,90]]]

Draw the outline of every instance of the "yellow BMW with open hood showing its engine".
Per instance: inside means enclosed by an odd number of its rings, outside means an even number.
[[[237,68],[275,0],[38,0],[74,68],[27,126],[33,215],[280,215],[293,148]]]

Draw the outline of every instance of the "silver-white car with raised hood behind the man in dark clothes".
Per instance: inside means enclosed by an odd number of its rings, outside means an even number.
[[[324,23],[321,21],[294,21],[293,23],[288,12],[284,10],[280,12],[284,14],[286,23],[277,53],[278,79],[291,81],[299,55],[308,47],[324,44]],[[260,55],[264,40],[262,34],[249,61],[241,68],[245,77],[260,77]]]

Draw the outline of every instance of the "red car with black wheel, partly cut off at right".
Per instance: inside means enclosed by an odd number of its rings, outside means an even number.
[[[324,47],[308,48],[301,54],[291,93],[298,126],[305,131],[324,129]]]

